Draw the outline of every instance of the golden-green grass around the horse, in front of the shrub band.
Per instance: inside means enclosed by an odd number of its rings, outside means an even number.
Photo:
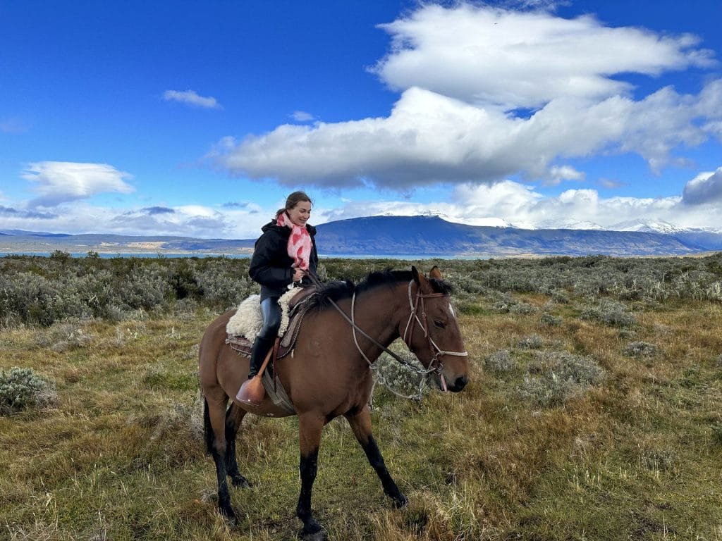
[[[625,326],[581,318],[599,303],[574,291],[508,297],[536,311],[467,299],[464,392],[375,392],[375,437],[405,509],[345,421],[326,426],[313,507],[329,537],[722,540],[721,304],[617,300],[634,316]],[[238,459],[253,486],[231,489],[237,527],[217,512],[197,386],[213,317],[199,307],[0,330],[0,368],[30,368],[57,392],[49,407],[0,416],[0,539],[295,539],[295,418],[246,418]],[[513,362],[494,361],[500,351]],[[604,377],[534,400],[525,378],[552,381],[569,359]]]

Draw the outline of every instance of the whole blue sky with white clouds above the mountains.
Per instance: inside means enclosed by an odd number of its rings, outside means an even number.
[[[653,9],[651,9],[653,5]],[[722,230],[718,0],[0,0],[0,229]]]

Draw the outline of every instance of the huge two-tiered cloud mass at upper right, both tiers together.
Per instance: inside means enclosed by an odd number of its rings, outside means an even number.
[[[600,152],[634,152],[658,171],[678,146],[722,135],[722,80],[699,94],[666,87],[635,100],[615,79],[711,66],[691,35],[471,4],[425,6],[383,28],[393,47],[375,72],[401,91],[388,117],[225,138],[212,157],[289,186],[408,193],[513,175],[583,180],[563,162]]]

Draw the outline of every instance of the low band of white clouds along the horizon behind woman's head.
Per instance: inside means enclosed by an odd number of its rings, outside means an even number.
[[[702,204],[704,203],[704,204]],[[260,234],[280,203],[261,208],[237,202],[222,206],[147,206],[116,209],[84,201],[66,203],[54,211],[20,206],[0,206],[7,229],[67,233],[181,235],[253,239]],[[61,209],[61,211],[60,211]],[[630,223],[669,222],[679,227],[719,227],[710,216],[722,216],[722,167],[702,173],[687,183],[684,196],[666,198],[602,198],[596,190],[565,190],[549,197],[529,184],[505,180],[486,185],[456,185],[447,201],[422,203],[375,198],[344,201],[337,208],[313,209],[313,224],[359,216],[412,216],[435,214],[464,224],[527,229],[573,227],[578,229],[626,228]]]

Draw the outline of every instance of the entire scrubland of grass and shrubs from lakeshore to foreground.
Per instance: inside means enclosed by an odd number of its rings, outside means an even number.
[[[325,259],[321,274],[411,263]],[[405,509],[329,423],[313,505],[331,539],[722,540],[722,254],[413,263],[455,288],[471,382],[421,400],[376,386]],[[295,538],[295,418],[246,418],[238,527],[204,454],[198,343],[257,291],[247,268],[0,259],[0,539]]]

